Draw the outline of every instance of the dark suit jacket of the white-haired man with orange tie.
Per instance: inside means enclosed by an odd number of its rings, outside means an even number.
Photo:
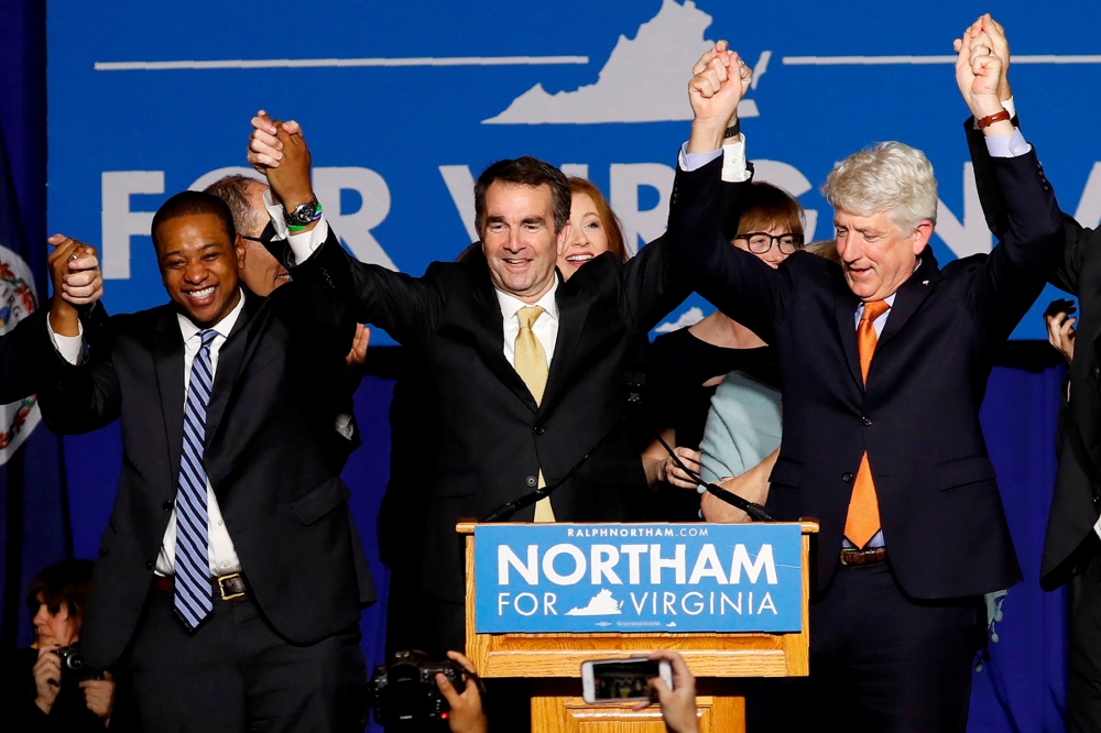
[[[838,554],[852,480],[866,450],[895,577],[908,595],[958,598],[1021,579],[979,407],[993,347],[1044,287],[1059,211],[1034,153],[994,174],[1015,212],[999,247],[937,265],[926,248],[898,289],[866,387],[841,267],[796,253],[780,270],[726,243],[716,223],[721,161],[685,173],[669,236],[697,291],[778,351],[784,437],[767,507],[817,517],[817,586]]]

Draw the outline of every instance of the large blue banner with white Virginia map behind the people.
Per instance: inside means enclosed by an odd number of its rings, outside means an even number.
[[[116,313],[165,302],[152,212],[247,171],[259,109],[303,124],[318,198],[364,261],[419,275],[453,260],[477,239],[475,177],[523,154],[590,178],[634,250],[665,228],[687,81],[718,39],[755,72],[741,117],[757,178],[799,198],[808,239],[831,237],[818,187],[832,164],[902,140],[938,174],[938,259],[992,244],[951,54],[991,3],[47,2],[50,227],[101,248]],[[1064,209],[1097,226],[1101,140],[1081,121],[1101,116],[1101,3],[994,6],[1016,54],[1022,129]],[[1045,338],[1051,297],[1018,338]],[[657,330],[710,309],[693,296]]]

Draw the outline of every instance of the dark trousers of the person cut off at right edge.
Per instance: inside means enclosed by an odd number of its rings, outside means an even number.
[[[1101,731],[1101,540],[1082,543],[1084,570],[1070,580],[1067,731]]]

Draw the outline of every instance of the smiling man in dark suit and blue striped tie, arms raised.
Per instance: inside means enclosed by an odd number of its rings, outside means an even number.
[[[172,197],[152,236],[168,304],[86,344],[64,300],[50,315],[47,424],[120,419],[124,451],[83,650],[100,668],[122,657],[150,730],[362,730],[370,578],[325,448],[355,331],[333,297],[339,243],[261,298],[239,284],[220,199]]]

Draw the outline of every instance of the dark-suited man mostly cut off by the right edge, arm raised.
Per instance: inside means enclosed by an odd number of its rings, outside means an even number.
[[[989,18],[980,21],[994,40],[995,55],[1007,63],[1003,29]],[[1000,98],[1012,111],[1007,84],[1000,89]],[[982,210],[991,232],[1001,238],[1010,227],[1007,193],[993,174],[994,163],[974,118],[967,120],[964,129]],[[1080,317],[1059,414],[1059,468],[1039,582],[1049,591],[1068,583],[1070,591],[1066,718],[1067,730],[1077,733],[1101,731],[1101,229],[1082,227],[1069,214],[1064,214],[1062,222],[1062,252],[1050,283],[1078,297]]]

